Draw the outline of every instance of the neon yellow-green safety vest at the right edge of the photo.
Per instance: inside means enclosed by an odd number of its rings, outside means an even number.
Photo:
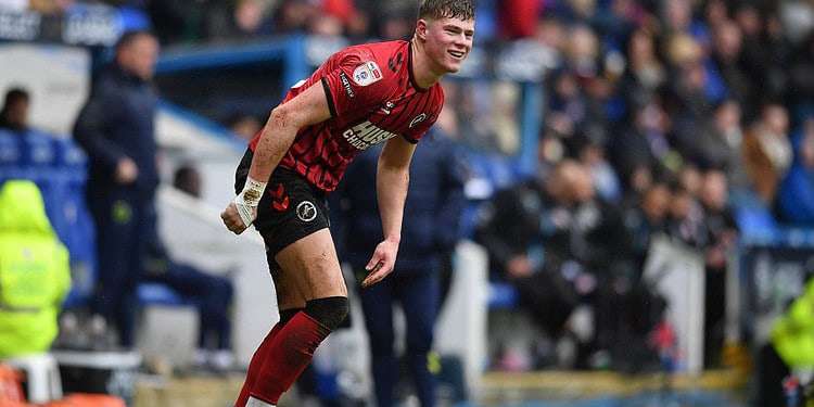
[[[814,280],[775,322],[772,343],[790,368],[814,368]]]

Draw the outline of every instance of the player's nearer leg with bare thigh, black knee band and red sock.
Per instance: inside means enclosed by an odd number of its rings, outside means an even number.
[[[289,244],[275,258],[283,276],[293,276],[307,301],[305,309],[294,315],[271,341],[249,406],[276,405],[348,310],[347,288],[327,228]]]

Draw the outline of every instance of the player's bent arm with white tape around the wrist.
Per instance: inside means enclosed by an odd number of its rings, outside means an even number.
[[[229,230],[240,234],[254,221],[266,182],[291,148],[297,131],[330,117],[328,97],[319,82],[271,111],[254,150],[243,191],[220,214]]]

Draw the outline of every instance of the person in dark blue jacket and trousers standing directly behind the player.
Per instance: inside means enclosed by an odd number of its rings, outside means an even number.
[[[370,251],[382,240],[376,199],[377,160],[381,149],[360,154],[345,173],[339,193],[344,230],[343,258],[358,275],[367,275]],[[417,149],[410,167],[402,244],[393,276],[360,292],[370,335],[372,377],[378,406],[394,406],[398,381],[394,351],[393,305],[407,319],[406,359],[422,407],[435,406],[435,378],[428,368],[438,308],[438,274],[443,257],[455,249],[463,209],[463,175],[454,144],[440,130]]]

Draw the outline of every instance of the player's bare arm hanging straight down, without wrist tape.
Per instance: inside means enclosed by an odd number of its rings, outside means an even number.
[[[402,137],[394,137],[387,141],[379,156],[376,193],[384,240],[376,246],[373,256],[368,262],[366,268],[370,275],[361,282],[363,288],[376,284],[393,271],[402,240],[404,201],[407,198],[410,160],[415,151],[416,144]]]

